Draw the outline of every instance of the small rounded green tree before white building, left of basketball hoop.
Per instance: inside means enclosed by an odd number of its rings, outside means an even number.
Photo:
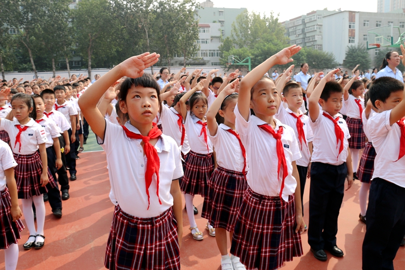
[[[359,65],[358,70],[365,70],[371,67],[370,55],[366,47],[362,44],[347,47],[346,57],[343,60],[343,66],[349,69]]]

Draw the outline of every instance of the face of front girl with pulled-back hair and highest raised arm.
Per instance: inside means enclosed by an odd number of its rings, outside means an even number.
[[[250,107],[260,119],[276,114],[280,104],[277,88],[271,80],[260,80],[254,87]]]

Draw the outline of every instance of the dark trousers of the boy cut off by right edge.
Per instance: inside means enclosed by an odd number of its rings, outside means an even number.
[[[394,269],[393,260],[405,235],[405,188],[381,178],[370,186],[363,269]]]

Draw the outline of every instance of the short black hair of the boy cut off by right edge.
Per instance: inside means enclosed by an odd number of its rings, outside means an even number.
[[[398,91],[403,91],[403,83],[391,77],[381,77],[373,82],[368,92],[371,103],[376,107],[376,100],[385,102],[391,93]]]

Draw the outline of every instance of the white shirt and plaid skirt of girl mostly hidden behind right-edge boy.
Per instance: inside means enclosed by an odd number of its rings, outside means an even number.
[[[373,110],[371,110],[369,118],[372,117]],[[373,176],[374,172],[374,160],[376,158],[376,149],[373,147],[373,143],[370,139],[370,133],[368,131],[368,120],[366,118],[366,111],[363,111],[361,114],[361,119],[363,122],[363,131],[366,134],[368,142],[366,144],[366,148],[364,149],[363,153],[361,154],[360,165],[357,169],[357,177],[360,179],[362,183],[371,183],[371,177]]]

